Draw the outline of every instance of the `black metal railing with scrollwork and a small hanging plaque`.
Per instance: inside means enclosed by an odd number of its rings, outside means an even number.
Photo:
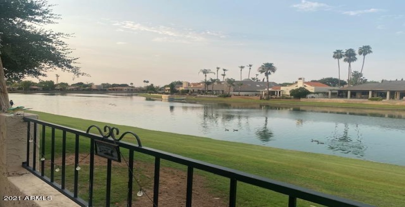
[[[111,149],[112,153],[109,153],[107,156],[107,179],[106,179],[106,206],[110,206],[110,187],[111,187],[111,165],[112,160],[115,159],[114,154],[120,156],[119,147],[125,148],[129,150],[129,156],[127,161],[128,167],[128,182],[127,182],[127,207],[132,206],[132,189],[133,189],[133,162],[134,162],[134,152],[143,153],[147,155],[151,155],[155,158],[155,170],[154,170],[154,187],[153,187],[153,206],[158,207],[159,203],[159,179],[160,179],[160,168],[161,168],[161,160],[167,160],[174,163],[178,163],[184,166],[187,166],[187,188],[186,188],[186,207],[192,206],[192,189],[193,189],[193,174],[194,169],[199,169],[205,172],[214,173],[226,178],[229,178],[230,183],[230,190],[229,190],[229,206],[235,207],[236,206],[236,197],[237,197],[237,183],[243,182],[248,183],[254,186],[262,187],[265,189],[269,189],[271,191],[275,191],[284,195],[288,196],[288,207],[296,207],[297,199],[306,200],[309,202],[313,202],[316,204],[321,204],[324,206],[329,207],[371,207],[370,205],[363,204],[356,201],[351,201],[348,199],[327,195],[324,193],[316,192],[313,190],[309,190],[306,188],[302,188],[299,186],[295,186],[292,184],[280,182],[277,180],[272,180],[266,177],[261,177],[249,173],[244,173],[241,171],[221,167],[218,165],[213,165],[210,163],[202,162],[199,160],[183,157],[180,155],[164,152],[157,149],[152,149],[149,147],[142,146],[140,138],[131,132],[125,132],[122,134],[120,138],[116,138],[115,135],[119,135],[119,130],[117,128],[110,128],[108,126],[104,127],[104,134],[100,128],[97,126],[90,126],[87,129],[87,132],[72,129],[69,127],[64,127],[61,125],[52,124],[49,122],[27,118],[24,117],[24,120],[28,123],[28,134],[27,134],[27,161],[23,163],[23,167],[30,171],[31,173],[38,176],[40,179],[57,189],[62,194],[66,195],[68,198],[75,201],[80,206],[93,206],[93,181],[94,181],[94,155],[97,153],[97,149],[100,146],[97,146],[96,142],[100,142],[102,144],[106,144],[102,147],[107,147],[107,149]],[[33,127],[31,125],[34,125]],[[38,132],[38,126],[41,125],[41,132]],[[34,132],[31,132],[31,128]],[[51,157],[51,164],[50,164],[50,177],[45,176],[44,172],[46,169],[45,160],[43,159],[43,155],[45,154],[45,128],[50,128],[51,133],[51,147],[50,147],[50,157]],[[91,134],[89,130],[91,128],[96,128],[100,135]],[[60,183],[55,182],[55,130],[62,131],[62,165],[61,165],[61,181]],[[79,146],[80,146],[80,138],[89,138],[90,140],[90,149],[89,149],[89,180],[88,180],[88,199],[84,201],[78,196],[78,183],[79,183],[79,173],[78,170],[74,173],[74,187],[73,192],[66,189],[65,186],[65,159],[66,159],[66,133],[71,133],[75,135],[75,168],[79,166]],[[33,135],[31,135],[33,134]],[[37,134],[41,135],[40,138],[40,147],[35,147],[37,143]],[[136,138],[137,144],[132,144],[129,142],[121,141],[124,135],[131,134]],[[88,139],[87,139],[88,140]],[[110,146],[108,146],[110,145]],[[112,147],[111,147],[112,146]],[[109,148],[110,147],[110,148]],[[116,147],[116,148],[114,148]],[[30,157],[30,149],[33,149],[32,158]],[[37,171],[37,148],[40,149],[41,159],[40,159],[40,171]],[[100,149],[101,149],[100,148]],[[99,150],[100,150],[99,149]],[[115,151],[114,151],[115,150]],[[106,153],[107,154],[107,153]],[[111,157],[108,157],[110,156]],[[32,164],[31,164],[32,163]],[[59,166],[56,166],[59,169]]]

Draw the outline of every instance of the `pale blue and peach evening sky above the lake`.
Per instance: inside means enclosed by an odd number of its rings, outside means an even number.
[[[263,63],[277,71],[270,81],[294,82],[338,77],[333,51],[363,45],[364,77],[405,77],[405,1],[403,0],[48,0],[58,24],[55,32],[74,33],[65,41],[75,49],[81,71],[48,72],[41,80],[69,84],[133,83],[163,86],[172,81],[200,82],[201,69],[228,69],[240,80],[239,66]],[[352,64],[361,70],[363,56]],[[340,62],[347,79],[348,64]],[[248,76],[248,67],[242,71]],[[216,78],[216,74],[208,77]],[[258,76],[260,79],[263,74]],[[222,76],[219,75],[222,79]],[[38,79],[33,79],[34,81]]]

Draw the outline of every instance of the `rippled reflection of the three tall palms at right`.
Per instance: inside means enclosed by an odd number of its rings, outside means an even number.
[[[328,149],[345,154],[353,154],[356,157],[363,157],[367,147],[362,143],[362,134],[359,130],[359,125],[355,125],[355,131],[357,132],[353,140],[349,135],[349,125],[344,124],[343,134],[338,134],[338,124],[335,124],[335,130],[333,136],[329,138]]]

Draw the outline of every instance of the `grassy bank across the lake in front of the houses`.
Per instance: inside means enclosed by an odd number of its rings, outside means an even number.
[[[161,95],[156,94],[139,94],[138,96],[161,98]],[[223,102],[223,103],[257,103],[270,105],[296,105],[296,106],[329,106],[329,107],[352,107],[352,108],[370,108],[370,109],[388,109],[388,110],[405,110],[405,105],[390,105],[390,104],[357,104],[357,103],[333,103],[333,102],[301,102],[291,99],[271,99],[266,100],[249,100],[238,98],[219,98],[219,97],[192,97],[187,96],[187,100],[196,102]]]

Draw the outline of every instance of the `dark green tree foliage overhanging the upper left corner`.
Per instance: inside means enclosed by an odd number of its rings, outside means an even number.
[[[74,66],[78,58],[62,40],[71,35],[42,29],[54,24],[59,15],[46,0],[1,0],[0,39],[1,60],[6,79],[46,76],[53,69],[86,75]]]

